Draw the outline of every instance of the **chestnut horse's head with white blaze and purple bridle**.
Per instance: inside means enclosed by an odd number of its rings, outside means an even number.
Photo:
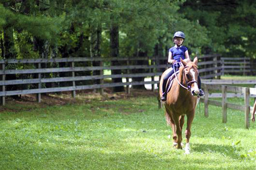
[[[198,70],[197,70],[197,62],[198,59],[195,57],[193,62],[185,62],[181,59],[184,67],[181,68],[180,73],[183,75],[183,84],[187,86],[187,89],[191,91],[193,96],[199,95],[199,87],[198,87]]]

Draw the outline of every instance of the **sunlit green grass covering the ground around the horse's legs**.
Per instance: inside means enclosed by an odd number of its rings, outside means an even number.
[[[240,111],[226,124],[220,107],[203,111],[190,155],[172,147],[155,96],[1,112],[0,169],[255,169],[256,125],[245,129]]]

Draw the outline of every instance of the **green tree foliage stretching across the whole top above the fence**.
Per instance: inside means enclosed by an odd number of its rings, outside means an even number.
[[[109,28],[115,23],[119,27],[120,56],[138,52],[153,56],[156,44],[161,44],[164,52],[173,45],[174,32],[183,31],[187,37],[184,45],[192,54],[256,58],[253,1],[28,0],[3,1],[0,11],[1,32],[4,27],[13,27],[28,41],[31,37],[48,41],[58,47],[62,57],[90,56],[90,36],[97,25],[102,27],[101,55],[108,57]],[[26,43],[20,41],[16,46]],[[19,58],[24,57],[19,49]],[[23,50],[40,56],[30,49]]]

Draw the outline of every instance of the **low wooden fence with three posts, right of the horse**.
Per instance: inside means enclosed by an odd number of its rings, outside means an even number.
[[[256,83],[256,81],[254,82]],[[209,90],[217,90],[217,91],[222,91],[221,96],[220,95],[212,95],[209,93]],[[204,113],[205,117],[209,116],[208,112],[208,105],[216,105],[218,107],[222,107],[222,122],[226,123],[228,118],[227,118],[227,109],[236,109],[239,111],[245,112],[245,128],[249,128],[249,114],[250,114],[250,104],[249,104],[249,99],[250,99],[250,94],[251,97],[255,97],[255,91],[256,88],[249,88],[249,87],[236,87],[236,86],[226,86],[226,85],[219,85],[219,84],[204,84],[204,91],[205,91],[205,96],[204,98],[201,98],[201,101],[204,101]],[[234,94],[229,94],[228,92],[233,92]],[[244,99],[244,105],[238,105],[238,104],[233,104],[233,103],[228,103],[227,98],[228,97],[234,97],[237,96],[239,97],[243,96]],[[222,101],[216,101],[216,100],[209,100],[209,97],[221,97]],[[252,107],[251,107],[252,108]]]

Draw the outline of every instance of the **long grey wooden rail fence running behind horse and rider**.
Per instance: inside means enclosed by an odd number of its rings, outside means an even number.
[[[126,86],[154,84],[155,79],[171,65],[166,64],[167,57],[134,58],[55,58],[55,59],[1,59],[0,60],[0,97],[5,105],[6,96],[36,94],[40,102],[41,94],[48,92],[101,89]],[[111,63],[115,62],[115,65]],[[221,73],[221,59],[218,55],[200,57],[199,72],[202,79],[218,78]],[[119,74],[105,74],[121,70]],[[135,71],[137,70],[137,71]],[[142,80],[133,79],[141,77]],[[145,77],[151,80],[144,81]],[[113,83],[108,79],[124,78],[122,82]]]

